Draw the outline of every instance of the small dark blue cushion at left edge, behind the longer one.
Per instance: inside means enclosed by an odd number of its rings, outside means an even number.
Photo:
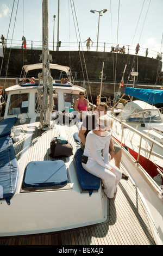
[[[0,138],[10,135],[11,128],[15,124],[16,117],[3,119],[0,123]]]

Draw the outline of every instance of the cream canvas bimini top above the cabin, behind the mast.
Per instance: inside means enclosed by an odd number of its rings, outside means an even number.
[[[49,64],[49,68],[50,69],[57,69],[57,70],[60,70],[60,71],[65,71],[66,73],[68,73],[68,71],[70,71],[69,66],[62,66],[62,65],[58,65],[58,64]],[[24,65],[23,69],[26,73],[29,70],[42,69],[42,63]]]

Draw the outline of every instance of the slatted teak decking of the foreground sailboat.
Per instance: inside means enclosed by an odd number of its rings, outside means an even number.
[[[26,131],[26,124],[21,126]],[[56,129],[50,132],[41,131],[38,120],[27,161],[33,161],[33,157],[35,161],[50,160],[48,155],[51,139],[60,133],[64,136],[63,132],[73,145],[75,153],[77,142],[74,141],[73,134],[77,131],[76,125],[71,129],[68,126],[56,125]],[[35,143],[37,140],[39,143]],[[14,147],[19,160],[23,141],[16,142]],[[126,172],[122,164],[121,169]],[[155,242],[141,198],[132,181],[128,179],[120,181],[116,199],[108,199],[108,217],[105,222],[52,233],[0,237],[0,245],[155,245]]]

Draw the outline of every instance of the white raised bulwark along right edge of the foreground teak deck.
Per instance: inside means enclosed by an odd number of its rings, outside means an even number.
[[[163,199],[156,191],[155,185],[151,177],[146,171],[135,163],[132,157],[125,149],[122,149],[121,162],[126,168],[130,178],[133,180],[137,193],[139,193],[146,212],[151,221],[153,235],[158,245],[163,245]]]

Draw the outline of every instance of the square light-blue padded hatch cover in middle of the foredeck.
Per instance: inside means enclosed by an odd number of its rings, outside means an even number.
[[[67,182],[64,161],[33,161],[27,164],[23,185],[25,187],[49,187],[66,185]]]

